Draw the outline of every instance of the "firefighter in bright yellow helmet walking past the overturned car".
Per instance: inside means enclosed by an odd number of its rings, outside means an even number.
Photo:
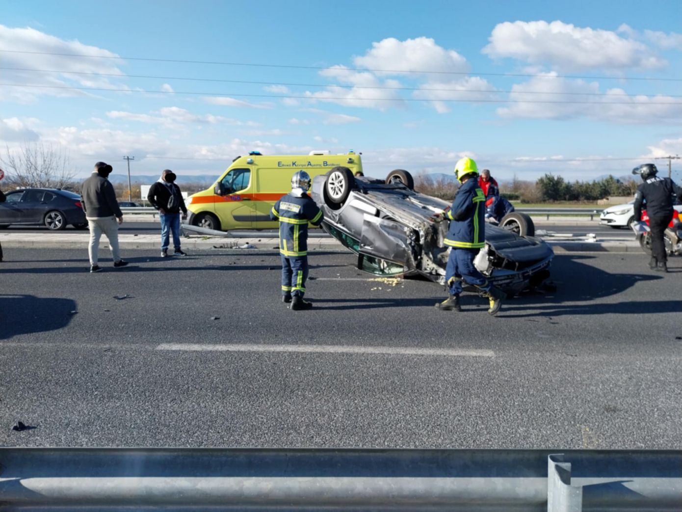
[[[444,214],[451,222],[445,237],[445,244],[451,247],[445,268],[445,283],[449,297],[437,302],[436,308],[443,311],[462,311],[460,294],[462,281],[475,286],[490,302],[490,315],[500,311],[506,298],[503,291],[492,286],[475,268],[473,259],[486,244],[484,240],[486,196],[478,186],[478,169],[471,158],[461,158],[455,166],[455,175],[462,184],[457,190],[452,205]]]

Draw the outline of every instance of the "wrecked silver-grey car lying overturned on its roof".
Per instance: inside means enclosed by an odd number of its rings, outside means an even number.
[[[444,284],[448,223],[438,214],[449,204],[413,187],[411,175],[401,169],[375,180],[335,167],[314,177],[311,195],[325,214],[323,229],[357,254],[358,268],[381,276],[421,274]],[[513,215],[513,222],[501,223],[509,229],[486,225],[486,246],[474,260],[507,294],[542,285],[554,257],[548,244],[532,236],[531,219]]]

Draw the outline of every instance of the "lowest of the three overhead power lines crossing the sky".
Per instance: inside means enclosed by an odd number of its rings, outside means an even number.
[[[74,87],[70,85],[38,85],[30,83],[0,83],[8,87],[34,87],[38,89],[70,89],[75,91],[111,91],[111,92],[127,92],[127,93],[146,93],[146,94],[191,94],[196,96],[237,96],[238,98],[272,98],[272,99],[292,99],[292,100],[338,100],[338,101],[440,101],[447,103],[550,103],[550,104],[584,104],[584,105],[636,105],[636,106],[651,106],[651,105],[680,105],[682,101],[677,102],[597,102],[597,101],[559,101],[559,100],[486,100],[486,99],[455,99],[455,98],[342,98],[334,96],[295,96],[292,94],[243,94],[232,92],[201,92],[201,91],[149,91],[147,89],[116,89],[113,87]]]

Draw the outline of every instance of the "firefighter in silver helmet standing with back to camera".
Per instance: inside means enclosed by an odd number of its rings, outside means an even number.
[[[275,203],[270,211],[273,221],[280,221],[282,255],[282,302],[291,302],[298,311],[312,308],[303,300],[308,279],[308,223],[318,226],[323,213],[308,195],[310,175],[297,171],[291,177],[291,192]]]

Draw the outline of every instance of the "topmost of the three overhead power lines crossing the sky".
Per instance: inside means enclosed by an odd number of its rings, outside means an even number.
[[[224,61],[198,61],[190,59],[158,59],[151,57],[120,57],[119,55],[87,55],[83,53],[57,53],[57,52],[35,52],[25,50],[0,50],[5,53],[24,53],[29,55],[55,55],[59,57],[85,57],[88,59],[120,59],[128,61],[149,61],[149,62],[174,62],[183,64],[210,64],[215,66],[248,66],[252,68],[286,68],[299,70],[328,70],[332,66],[293,66],[288,64],[261,64],[249,62],[224,62]],[[532,73],[491,73],[491,72],[466,72],[466,71],[435,71],[435,70],[385,70],[385,69],[371,69],[371,68],[339,68],[344,71],[357,72],[381,72],[394,74],[454,74],[454,75],[470,75],[476,74],[480,76],[523,76],[526,78],[546,78],[546,79],[584,79],[584,80],[637,80],[637,81],[666,81],[666,82],[682,82],[682,79],[670,78],[654,78],[652,76],[593,76],[593,75],[571,75],[571,74],[532,74]]]

